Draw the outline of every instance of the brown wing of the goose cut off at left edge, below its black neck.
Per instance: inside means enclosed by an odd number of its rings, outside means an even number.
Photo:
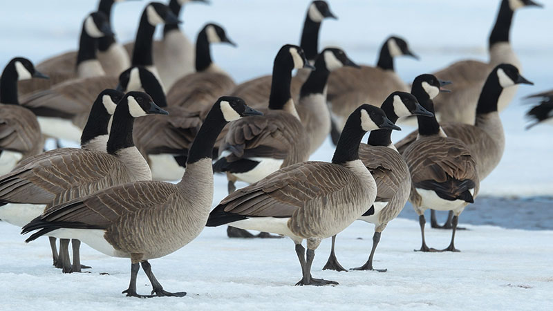
[[[32,156],[42,149],[37,117],[18,105],[0,104],[0,150]]]

